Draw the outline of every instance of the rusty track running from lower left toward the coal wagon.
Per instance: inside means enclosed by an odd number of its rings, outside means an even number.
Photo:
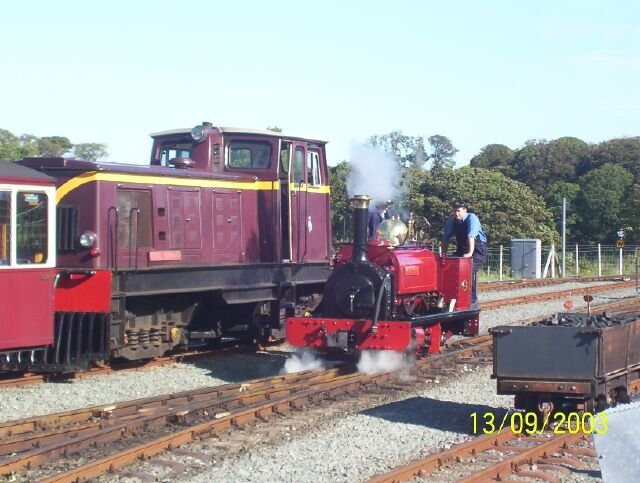
[[[610,304],[629,307],[626,300]],[[531,321],[537,320],[531,319]],[[524,323],[524,322],[523,322]],[[461,339],[417,362],[420,381],[440,381],[464,365],[491,363],[492,339]],[[0,474],[19,481],[78,481],[117,472],[186,443],[226,445],[238,429],[336,399],[406,390],[398,372],[362,374],[338,367],[185,391],[0,424]],[[250,429],[249,429],[250,431]],[[230,443],[231,444],[231,443]]]

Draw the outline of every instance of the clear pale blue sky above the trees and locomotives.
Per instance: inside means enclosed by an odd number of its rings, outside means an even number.
[[[486,144],[640,135],[640,2],[3,2],[0,128],[106,143],[146,163],[151,132],[265,128],[352,141]]]

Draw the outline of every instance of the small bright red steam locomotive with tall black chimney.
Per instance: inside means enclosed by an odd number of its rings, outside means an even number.
[[[370,199],[356,196],[353,244],[343,246],[313,315],[287,319],[287,340],[321,352],[440,351],[452,334],[477,335],[470,304],[471,259],[442,258],[405,234],[367,240]],[[384,221],[408,228],[399,220]],[[411,230],[409,230],[411,231]],[[409,237],[412,238],[412,237]]]

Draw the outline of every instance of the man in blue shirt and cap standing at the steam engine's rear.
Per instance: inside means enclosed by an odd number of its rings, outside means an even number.
[[[454,256],[472,258],[473,268],[471,277],[471,303],[478,303],[476,284],[478,271],[487,257],[487,235],[482,231],[480,220],[474,213],[467,213],[468,205],[465,201],[453,203],[453,215],[444,225],[442,240],[442,255],[447,255],[449,240],[456,237],[456,251]]]

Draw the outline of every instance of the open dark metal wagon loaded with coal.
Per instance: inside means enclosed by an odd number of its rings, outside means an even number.
[[[548,325],[499,326],[493,334],[498,394],[516,409],[602,410],[628,402],[640,377],[640,318],[558,314]]]

